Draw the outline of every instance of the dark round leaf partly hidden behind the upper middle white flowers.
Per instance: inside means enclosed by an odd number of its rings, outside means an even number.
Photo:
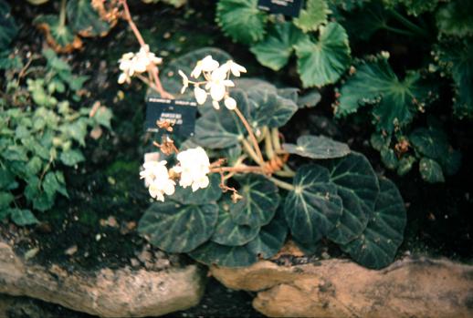
[[[177,98],[191,98],[194,100],[194,89],[193,87],[187,88],[184,95],[181,95],[181,88],[183,87],[183,77],[178,74],[179,70],[182,70],[187,77],[190,77],[195,64],[203,59],[205,56],[212,56],[220,64],[225,63],[227,60],[232,59],[225,51],[216,47],[203,47],[187,54],[179,56],[171,61],[166,61],[166,67],[161,72],[161,80],[163,87],[173,94]]]

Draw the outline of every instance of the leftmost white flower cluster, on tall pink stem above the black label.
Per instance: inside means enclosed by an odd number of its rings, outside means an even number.
[[[125,53],[119,60],[121,74],[118,82],[119,84],[130,83],[133,75],[144,73],[150,65],[159,65],[162,62],[163,58],[150,52],[150,46],[142,46],[138,53]]]

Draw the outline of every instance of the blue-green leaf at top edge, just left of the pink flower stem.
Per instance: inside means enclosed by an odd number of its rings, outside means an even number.
[[[80,36],[105,36],[110,30],[89,0],[68,0],[66,10],[68,24]]]

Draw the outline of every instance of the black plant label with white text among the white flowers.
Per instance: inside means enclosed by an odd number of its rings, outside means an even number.
[[[194,136],[197,103],[149,97],[146,102],[146,131]]]

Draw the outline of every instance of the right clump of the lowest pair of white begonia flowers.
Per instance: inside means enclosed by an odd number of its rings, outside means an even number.
[[[179,166],[173,169],[181,173],[181,180],[179,180],[181,187],[191,186],[193,191],[208,187],[210,180],[207,173],[210,172],[210,159],[204,149],[198,147],[179,152],[177,160]]]

